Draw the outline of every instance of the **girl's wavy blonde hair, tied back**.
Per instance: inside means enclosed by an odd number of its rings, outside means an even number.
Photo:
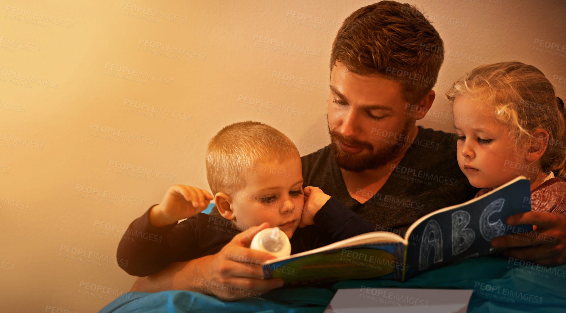
[[[532,134],[537,128],[546,130],[542,170],[566,177],[564,108],[559,107],[554,86],[538,68],[521,62],[482,65],[454,82],[446,96],[451,104],[457,96],[479,101],[480,109],[508,128],[517,142],[517,153],[536,142]]]

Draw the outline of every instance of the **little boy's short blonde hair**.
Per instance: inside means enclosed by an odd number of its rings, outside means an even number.
[[[234,195],[246,186],[257,163],[299,157],[285,134],[260,122],[238,122],[222,128],[208,143],[206,167],[212,194]]]

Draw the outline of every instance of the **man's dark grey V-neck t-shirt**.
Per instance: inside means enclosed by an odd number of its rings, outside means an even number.
[[[396,141],[394,138],[392,141]],[[370,222],[376,231],[403,235],[418,218],[474,198],[479,191],[458,167],[456,140],[452,134],[419,126],[417,138],[377,192],[365,203],[351,198],[334,160],[331,145],[301,157],[303,187],[315,186],[336,197]],[[375,195],[374,195],[375,192]]]

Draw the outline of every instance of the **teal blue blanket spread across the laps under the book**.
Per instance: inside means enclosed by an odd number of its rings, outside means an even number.
[[[340,281],[331,289],[279,289],[261,299],[227,302],[192,291],[131,292],[100,313],[126,312],[323,312],[338,289],[393,287],[473,289],[468,312],[566,312],[566,264],[519,267],[508,259],[477,258],[429,271],[406,282]]]

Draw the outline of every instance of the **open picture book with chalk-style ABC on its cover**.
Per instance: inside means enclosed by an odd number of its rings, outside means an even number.
[[[530,211],[530,182],[523,176],[487,194],[419,218],[405,238],[387,231],[357,235],[331,245],[269,260],[263,276],[285,285],[367,278],[405,281],[455,261],[501,252],[491,239],[533,230],[510,226],[508,216]]]

